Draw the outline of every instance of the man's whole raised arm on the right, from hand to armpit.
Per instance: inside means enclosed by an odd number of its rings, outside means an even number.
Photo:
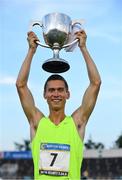
[[[79,39],[79,47],[86,63],[88,77],[90,81],[90,84],[84,93],[81,106],[72,115],[78,127],[82,127],[81,136],[83,138],[85,125],[94,109],[97,100],[97,96],[101,85],[101,78],[95,63],[87,50],[87,36],[85,31],[79,31],[78,33],[76,33],[76,36]]]

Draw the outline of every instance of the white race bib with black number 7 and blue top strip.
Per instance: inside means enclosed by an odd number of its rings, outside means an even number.
[[[70,145],[41,143],[39,173],[53,176],[67,176],[70,162]]]

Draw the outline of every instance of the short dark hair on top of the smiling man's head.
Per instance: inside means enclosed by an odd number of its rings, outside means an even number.
[[[46,92],[47,83],[51,80],[63,81],[65,84],[65,88],[68,91],[69,87],[68,87],[67,81],[62,76],[60,76],[59,74],[53,74],[53,75],[49,76],[48,79],[46,80],[45,85],[44,85],[44,92]]]

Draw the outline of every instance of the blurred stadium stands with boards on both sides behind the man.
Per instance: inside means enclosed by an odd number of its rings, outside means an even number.
[[[0,152],[0,179],[33,179],[31,151]],[[122,179],[122,148],[85,150],[81,179]]]

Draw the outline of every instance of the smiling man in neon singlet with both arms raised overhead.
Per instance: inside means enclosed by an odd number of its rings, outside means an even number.
[[[80,180],[85,128],[97,100],[101,78],[87,50],[85,31],[80,30],[75,36],[86,63],[90,83],[83,95],[81,105],[74,110],[71,116],[67,116],[65,104],[70,97],[68,84],[59,74],[51,75],[44,86],[44,98],[49,106],[49,116],[46,117],[36,107],[27,85],[31,62],[40,43],[34,32],[28,33],[29,49],[18,74],[16,86],[24,113],[30,124],[35,179]],[[54,43],[53,47],[50,43],[48,45],[53,50],[58,49],[59,51],[60,42],[58,43],[58,45]],[[63,71],[66,62],[59,58],[60,62],[57,65],[56,58],[59,56],[55,55],[51,61],[46,62],[48,70],[45,70],[51,72],[52,68],[52,72],[60,73],[60,66],[62,66],[62,72],[66,71],[66,69]],[[53,65],[55,68],[52,67]],[[64,68],[67,67],[66,64]]]

